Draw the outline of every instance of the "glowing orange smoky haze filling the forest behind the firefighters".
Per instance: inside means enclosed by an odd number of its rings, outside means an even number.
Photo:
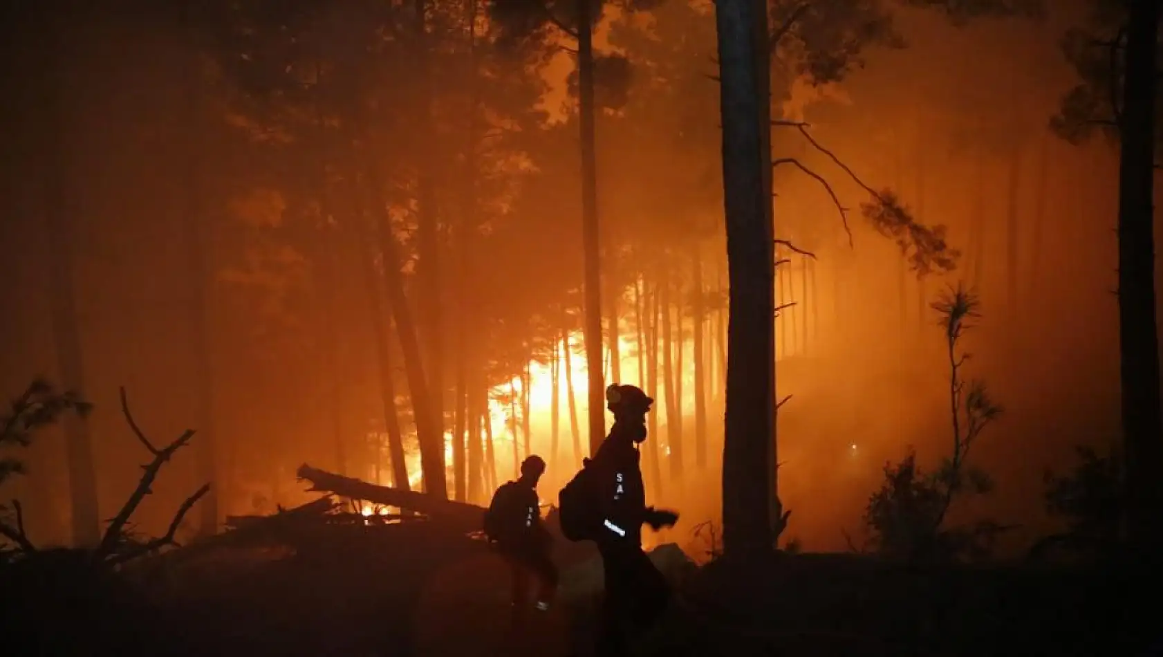
[[[487,502],[533,451],[550,462],[542,499],[556,501],[587,441],[569,38],[551,26],[514,36],[485,8],[470,29],[470,3],[433,9],[423,44],[411,6],[122,5],[10,16],[3,58],[2,390],[43,376],[94,404],[99,517],[150,458],[119,386],[156,443],[200,431],[142,506],[143,531],[160,533],[207,480],[208,444],[220,519],[312,499],[302,463],[391,485],[393,422],[416,487],[411,366],[442,413],[449,497]],[[929,305],[957,281],[982,300],[966,374],[1005,413],[970,456],[994,491],[954,515],[1019,524],[1008,540],[1027,544],[1049,527],[1043,471],[1116,436],[1115,153],[1048,129],[1075,81],[1058,48],[1082,17],[1073,5],[954,26],[890,3],[901,43],[868,44],[840,81],[776,66],[775,114],[809,124],[961,253],[919,278],[862,217],[868,193],[849,173],[795,127],[773,128],[773,157],[798,158],[850,208],[777,167],[776,234],[814,255],[782,248],[777,278],[778,302],[794,303],[776,337],[791,395],[785,536],[807,549],[861,535],[886,460],[909,445],[925,464],[948,454],[948,359]],[[605,380],[650,387],[650,495],[683,510],[659,540],[693,554],[707,548],[694,527],[719,517],[726,352],[713,14],[675,1],[609,14],[598,42],[625,56],[599,63]],[[63,373],[62,322],[78,336],[78,380]],[[454,467],[457,434],[480,445],[465,448],[476,473]],[[38,543],[71,541],[65,444],[53,427],[3,455],[27,463],[0,493],[24,500]]]

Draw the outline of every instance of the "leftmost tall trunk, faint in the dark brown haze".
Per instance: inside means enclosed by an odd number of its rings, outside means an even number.
[[[48,134],[44,138],[45,222],[49,243],[49,278],[51,286],[52,337],[64,387],[80,391],[85,385],[84,351],[80,343],[80,319],[77,315],[76,249],[73,223],[80,209],[76,202],[79,177],[70,157],[73,112],[69,91],[74,85],[69,65],[76,60],[77,45],[69,34],[73,16],[55,12],[49,19],[51,58],[45,102]],[[74,415],[62,420],[65,457],[69,465],[69,493],[72,509],[72,541],[76,547],[95,547],[101,541],[100,509],[97,495],[97,470],[88,424]]]

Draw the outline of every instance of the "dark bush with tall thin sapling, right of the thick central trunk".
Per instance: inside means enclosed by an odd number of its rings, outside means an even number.
[[[970,355],[958,351],[958,343],[971,328],[970,322],[979,316],[977,307],[977,297],[961,285],[933,303],[941,315],[949,357],[952,449],[932,472],[916,464],[912,450],[899,463],[885,464],[884,481],[869,498],[864,512],[872,545],[885,556],[907,560],[982,558],[989,555],[997,536],[1008,529],[992,521],[943,527],[955,498],[985,494],[992,488],[985,471],[966,464],[970,448],[1001,413],[984,383],[966,381],[961,374]]]

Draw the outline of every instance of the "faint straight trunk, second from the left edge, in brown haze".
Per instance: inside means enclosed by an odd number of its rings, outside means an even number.
[[[194,386],[197,391],[198,410],[198,454],[199,477],[211,485],[199,502],[199,534],[213,536],[217,533],[219,516],[219,477],[214,431],[214,381],[211,355],[211,266],[206,208],[202,198],[204,163],[199,141],[206,128],[202,121],[202,80],[201,49],[198,47],[194,26],[190,12],[194,7],[190,0],[181,3],[183,30],[186,36],[186,257],[188,258],[191,290],[190,327],[193,333],[192,356],[194,360]]]

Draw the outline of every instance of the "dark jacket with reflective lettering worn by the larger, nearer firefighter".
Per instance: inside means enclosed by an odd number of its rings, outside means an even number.
[[[591,466],[597,469],[595,479],[605,516],[626,530],[622,541],[635,545],[642,544],[642,523],[647,514],[641,456],[633,440],[634,433],[641,430],[644,428],[615,422],[591,462]],[[611,534],[611,537],[614,535]]]

